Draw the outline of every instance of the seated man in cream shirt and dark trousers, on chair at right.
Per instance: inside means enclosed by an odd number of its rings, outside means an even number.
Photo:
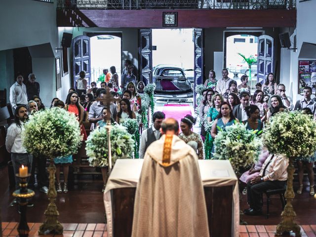
[[[263,163],[259,176],[247,183],[247,196],[250,208],[246,215],[262,215],[261,194],[270,189],[285,188],[288,166],[287,158],[271,154]]]

